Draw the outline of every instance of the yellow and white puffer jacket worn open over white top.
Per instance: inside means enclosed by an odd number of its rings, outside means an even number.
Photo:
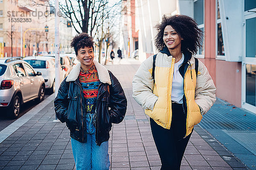
[[[169,51],[168,51],[169,52]],[[134,75],[133,97],[145,109],[145,114],[154,121],[170,129],[172,122],[172,77],[175,58],[168,52],[157,54],[155,62],[155,84],[152,79],[153,56],[148,57]],[[186,114],[186,136],[198,124],[216,101],[215,85],[206,66],[198,60],[198,76],[195,72],[195,58],[185,51],[184,62],[179,71],[183,77],[183,109]],[[154,87],[153,87],[154,86]],[[186,137],[185,136],[185,137]]]

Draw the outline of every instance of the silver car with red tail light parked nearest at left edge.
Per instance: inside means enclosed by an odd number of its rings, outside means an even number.
[[[23,103],[44,100],[45,84],[41,72],[35,72],[21,58],[0,59],[0,82],[0,109],[6,109],[12,119],[18,117]]]

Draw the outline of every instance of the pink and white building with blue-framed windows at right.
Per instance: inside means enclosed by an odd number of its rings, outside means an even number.
[[[193,17],[204,31],[195,57],[207,66],[217,97],[256,113],[255,0],[135,0],[135,5],[141,61],[157,53],[154,26],[164,14]]]

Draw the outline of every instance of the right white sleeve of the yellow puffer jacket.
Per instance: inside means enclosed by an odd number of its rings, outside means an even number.
[[[195,102],[200,107],[202,115],[207,113],[216,101],[215,92],[216,88],[212,77],[203,62],[199,60],[195,86]]]

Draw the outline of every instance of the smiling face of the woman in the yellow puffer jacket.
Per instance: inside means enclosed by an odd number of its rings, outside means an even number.
[[[166,26],[163,32],[163,42],[169,50],[177,49],[181,51],[181,40],[182,38],[172,26]]]

